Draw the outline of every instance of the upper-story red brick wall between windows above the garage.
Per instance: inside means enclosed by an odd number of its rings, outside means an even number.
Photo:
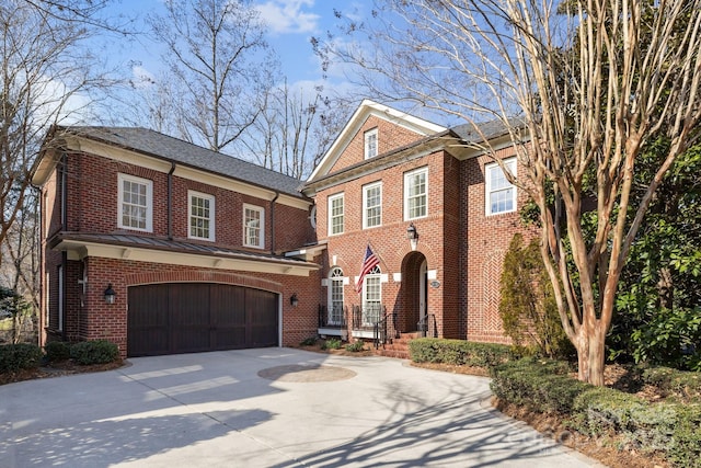
[[[82,232],[115,232],[117,228],[117,176],[135,175],[153,183],[153,232],[129,231],[145,236],[168,236],[168,174],[112,161],[93,155],[71,153],[68,157],[68,229]],[[215,242],[217,246],[249,250],[243,247],[243,204],[260,206],[265,210],[265,249],[273,249],[271,228],[271,202],[231,192],[225,189],[173,176],[172,222],[173,237],[179,240],[209,243],[188,239],[188,191],[215,196]],[[275,249],[291,250],[313,240],[309,222],[297,222],[309,217],[309,212],[275,204]],[[55,216],[55,215],[54,215]],[[295,220],[295,222],[287,222]],[[261,249],[250,249],[260,252]]]

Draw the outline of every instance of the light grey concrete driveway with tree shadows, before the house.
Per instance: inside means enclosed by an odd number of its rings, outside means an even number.
[[[292,349],[129,362],[0,387],[0,466],[597,466],[491,409],[482,377]]]

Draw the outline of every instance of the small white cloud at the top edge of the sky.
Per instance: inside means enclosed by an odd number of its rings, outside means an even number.
[[[269,0],[255,8],[263,21],[271,26],[271,32],[285,34],[317,31],[320,16],[309,10],[303,11],[313,5],[314,0]]]

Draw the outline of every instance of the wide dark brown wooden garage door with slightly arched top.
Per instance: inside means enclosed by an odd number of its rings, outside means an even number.
[[[129,287],[127,354],[276,346],[277,295],[202,283]]]

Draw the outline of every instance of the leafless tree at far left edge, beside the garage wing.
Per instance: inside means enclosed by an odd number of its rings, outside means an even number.
[[[74,122],[106,82],[85,44],[96,30],[111,28],[93,16],[102,5],[0,3],[0,281],[34,306],[39,247],[30,184],[49,128]]]

